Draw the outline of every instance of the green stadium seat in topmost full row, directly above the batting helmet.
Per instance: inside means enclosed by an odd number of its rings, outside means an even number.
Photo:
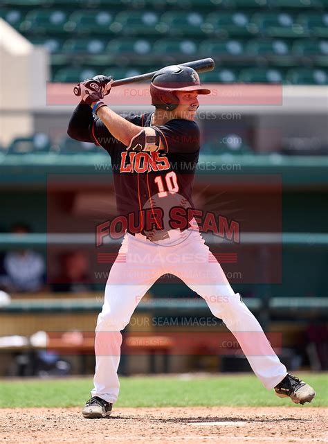
[[[204,17],[199,12],[172,11],[161,16],[158,30],[167,35],[197,35],[203,34]]]

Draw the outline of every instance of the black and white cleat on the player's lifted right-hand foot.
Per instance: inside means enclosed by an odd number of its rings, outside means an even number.
[[[275,394],[279,398],[291,398],[295,404],[311,402],[316,396],[316,392],[309,384],[300,380],[294,375],[287,373],[285,378],[275,386]]]

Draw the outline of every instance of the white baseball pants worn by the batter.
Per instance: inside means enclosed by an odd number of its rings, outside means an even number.
[[[156,243],[140,234],[126,233],[123,238],[109,273],[104,305],[95,328],[96,365],[91,396],[116,402],[120,388],[117,375],[120,331],[129,323],[140,299],[163,274],[181,278],[206,300],[212,314],[222,319],[233,333],[264,387],[273,389],[286,376],[286,367],[275,355],[257,319],[239,294],[233,292],[221,265],[209,262],[208,256],[212,254],[201,234],[195,230],[169,233],[170,239]],[[185,239],[179,239],[181,236]],[[249,340],[249,332],[256,332],[256,340]],[[106,338],[110,344],[104,344]]]

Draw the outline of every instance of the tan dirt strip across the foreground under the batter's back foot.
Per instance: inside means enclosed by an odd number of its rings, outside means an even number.
[[[295,407],[0,409],[1,443],[328,443],[328,409]]]

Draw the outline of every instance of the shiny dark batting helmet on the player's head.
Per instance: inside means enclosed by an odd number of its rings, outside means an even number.
[[[198,94],[210,94],[210,89],[203,88],[199,75],[189,66],[166,66],[154,74],[150,84],[152,105],[173,111],[179,105],[175,91],[198,91]]]

